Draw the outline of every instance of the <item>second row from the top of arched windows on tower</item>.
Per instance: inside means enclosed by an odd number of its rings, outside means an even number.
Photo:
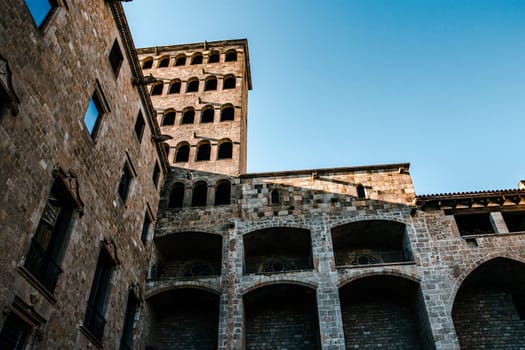
[[[192,77],[189,78],[186,81],[186,92],[198,92],[199,91],[199,78]],[[152,96],[158,96],[162,95],[164,92],[164,85],[168,86],[168,89],[166,91],[166,94],[180,94],[181,88],[182,88],[182,80],[180,79],[174,79],[168,84],[164,84],[163,82],[157,82],[153,84],[151,87],[151,95]],[[215,75],[211,75],[204,79],[204,90],[203,91],[215,91],[217,90],[218,80]],[[228,90],[228,89],[235,89],[236,86],[236,79],[233,74],[225,75],[222,78],[222,89]]]

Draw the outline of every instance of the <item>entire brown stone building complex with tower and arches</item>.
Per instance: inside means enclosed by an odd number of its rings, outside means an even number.
[[[40,3],[0,0],[1,349],[525,348],[524,182],[247,173],[246,40]]]

